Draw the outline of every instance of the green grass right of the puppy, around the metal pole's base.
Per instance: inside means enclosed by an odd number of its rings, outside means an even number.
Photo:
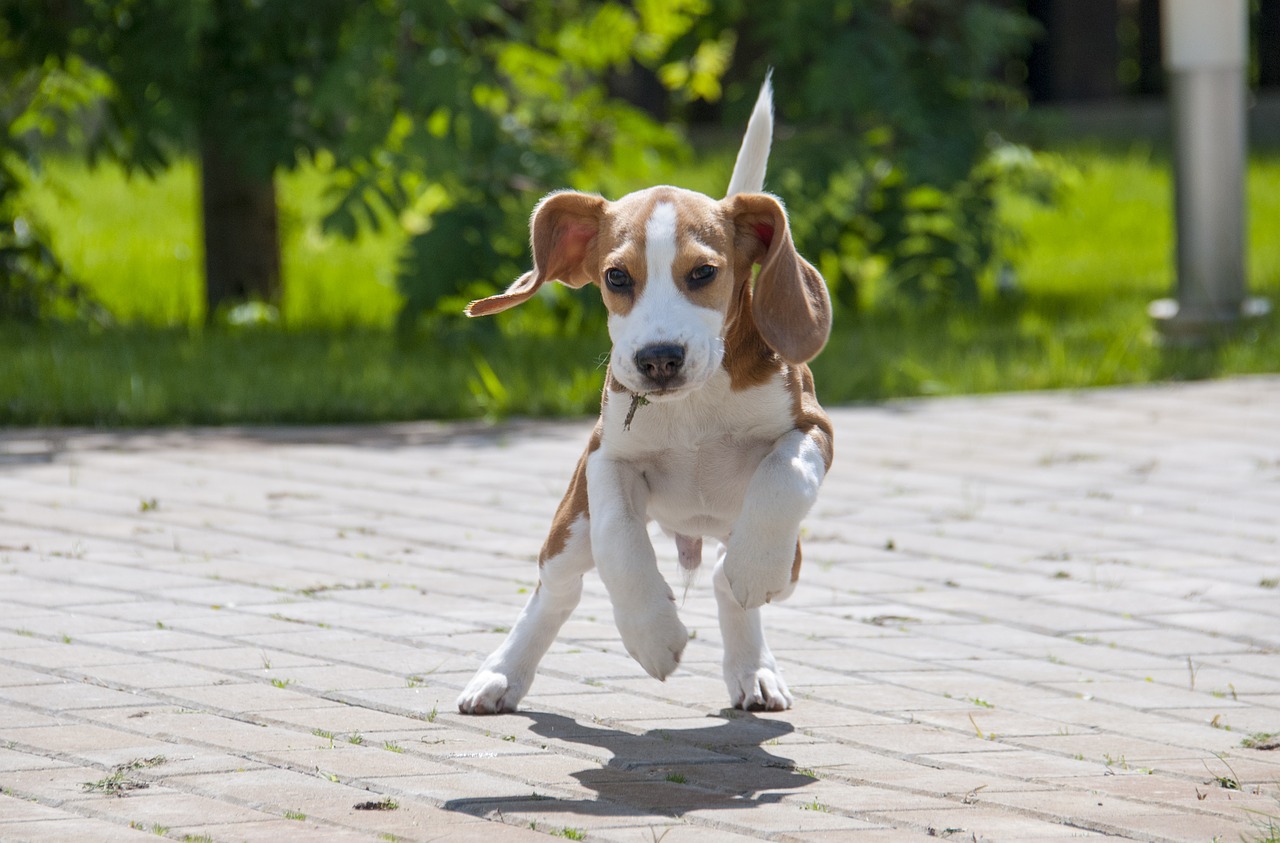
[[[814,365],[831,400],[1060,389],[1280,370],[1280,321],[1202,349],[1158,342],[1147,304],[1174,284],[1167,160],[1146,147],[1065,154],[1079,171],[1061,201],[1006,202],[1023,234],[1015,301],[975,311],[868,308]],[[1280,307],[1280,156],[1249,174],[1249,287]]]

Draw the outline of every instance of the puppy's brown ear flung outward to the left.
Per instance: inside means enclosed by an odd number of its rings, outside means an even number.
[[[595,280],[588,257],[600,232],[605,202],[599,196],[562,191],[550,193],[534,209],[529,223],[534,269],[516,279],[504,293],[467,304],[467,316],[488,316],[529,301],[543,281],[584,287]]]

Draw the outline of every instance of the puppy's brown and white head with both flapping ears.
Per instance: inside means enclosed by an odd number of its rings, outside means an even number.
[[[765,193],[716,201],[655,187],[609,202],[564,191],[539,202],[530,229],[534,269],[471,302],[467,315],[515,307],[548,280],[596,284],[609,311],[613,377],[650,399],[705,384],[739,320],[790,363],[817,356],[831,331],[827,285],[796,252],[782,203]]]

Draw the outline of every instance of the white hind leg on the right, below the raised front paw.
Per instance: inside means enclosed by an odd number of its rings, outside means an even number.
[[[737,709],[790,709],[792,697],[782,681],[769,645],[764,642],[764,627],[759,609],[744,609],[733,596],[733,588],[724,576],[724,554],[716,563],[712,574],[716,603],[719,606],[721,637],[724,640],[724,684],[728,700]]]

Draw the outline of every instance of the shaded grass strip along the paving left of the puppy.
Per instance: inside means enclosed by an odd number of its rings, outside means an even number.
[[[390,331],[0,327],[0,423],[335,423],[582,414],[604,340],[465,345]],[[481,377],[488,359],[502,382]],[[535,361],[536,365],[530,365]]]

